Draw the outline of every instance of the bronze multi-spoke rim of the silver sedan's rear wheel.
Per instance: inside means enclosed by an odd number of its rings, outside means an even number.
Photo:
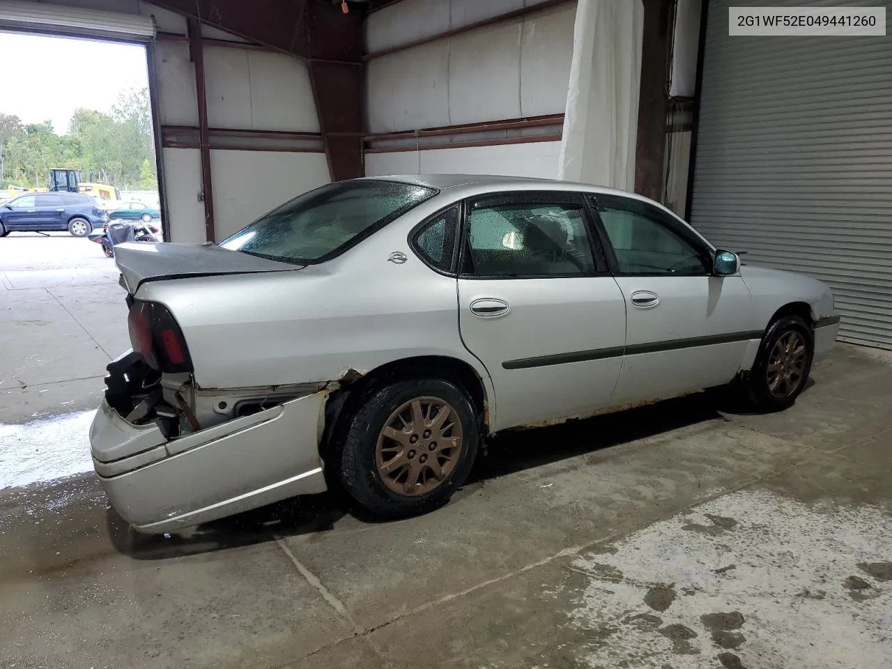
[[[389,490],[424,495],[449,478],[461,449],[458,412],[440,398],[418,397],[387,418],[378,434],[375,465]]]

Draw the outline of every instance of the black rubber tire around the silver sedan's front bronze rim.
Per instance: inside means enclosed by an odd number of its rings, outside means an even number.
[[[801,341],[805,347],[804,359],[801,365],[801,374],[796,372],[797,366],[790,368],[789,386],[784,381],[772,392],[772,381],[783,376],[774,368],[773,356],[779,347],[781,340],[785,342]],[[780,348],[784,348],[780,344]],[[802,318],[798,316],[785,316],[778,318],[771,326],[768,326],[759,344],[759,352],[756,354],[756,362],[747,378],[747,391],[750,403],[760,411],[771,412],[788,409],[796,398],[805,389],[808,375],[812,370],[814,359],[814,332]],[[772,367],[770,370],[769,367]],[[783,366],[781,365],[781,368]]]

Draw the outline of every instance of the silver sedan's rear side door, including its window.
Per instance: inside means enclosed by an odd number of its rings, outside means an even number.
[[[491,429],[607,406],[622,364],[625,304],[582,195],[486,195],[465,212],[458,324],[495,388]]]

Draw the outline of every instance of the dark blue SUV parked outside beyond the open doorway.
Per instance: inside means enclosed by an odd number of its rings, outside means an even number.
[[[108,214],[90,195],[78,193],[29,193],[0,204],[0,237],[11,232],[68,230],[86,237],[94,227],[103,227]]]

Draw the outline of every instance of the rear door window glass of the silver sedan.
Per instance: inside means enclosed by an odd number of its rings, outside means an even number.
[[[462,274],[572,277],[595,273],[582,208],[575,204],[472,204]]]

